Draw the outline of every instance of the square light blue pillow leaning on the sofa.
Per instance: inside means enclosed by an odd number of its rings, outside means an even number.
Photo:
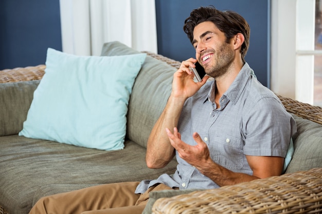
[[[124,148],[127,111],[145,53],[75,56],[47,50],[45,75],[19,135],[102,150]]]

